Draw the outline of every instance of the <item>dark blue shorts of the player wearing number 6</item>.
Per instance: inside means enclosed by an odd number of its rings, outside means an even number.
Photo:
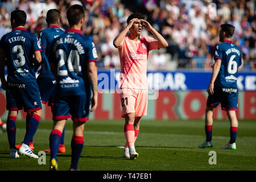
[[[238,89],[225,89],[214,86],[213,95],[208,96],[207,106],[217,107],[221,103],[222,110],[235,110],[238,107]]]

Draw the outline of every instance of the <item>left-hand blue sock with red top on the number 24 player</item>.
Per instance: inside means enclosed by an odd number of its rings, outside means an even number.
[[[59,150],[61,132],[60,130],[52,130],[49,137],[49,146],[51,149],[51,159],[55,158],[57,160],[57,152]]]

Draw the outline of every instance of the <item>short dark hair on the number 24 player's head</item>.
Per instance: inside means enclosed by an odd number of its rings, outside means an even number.
[[[84,9],[80,5],[73,5],[67,10],[67,18],[69,27],[72,27],[74,24],[79,23],[79,21],[84,18]]]

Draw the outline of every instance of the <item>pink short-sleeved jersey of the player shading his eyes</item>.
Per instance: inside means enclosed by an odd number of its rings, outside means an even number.
[[[158,40],[149,36],[138,41],[125,36],[118,47],[121,63],[119,88],[147,89],[147,56],[158,49]]]

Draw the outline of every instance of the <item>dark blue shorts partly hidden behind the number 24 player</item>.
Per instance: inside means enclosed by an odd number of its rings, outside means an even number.
[[[56,80],[54,78],[38,77],[36,79],[39,85],[40,96],[43,104],[52,105],[53,94],[55,90]]]

